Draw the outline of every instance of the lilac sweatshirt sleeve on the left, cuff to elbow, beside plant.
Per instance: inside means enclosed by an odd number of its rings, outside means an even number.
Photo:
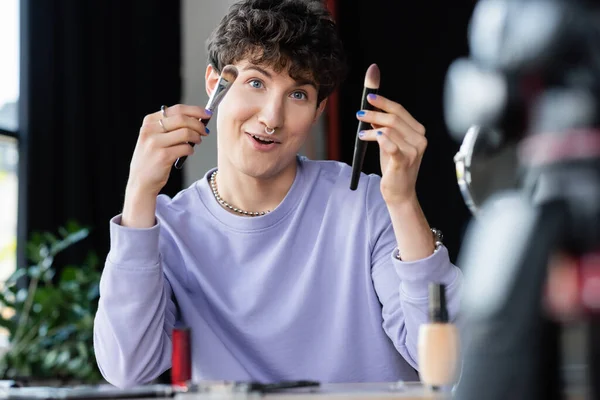
[[[161,265],[160,222],[147,229],[120,222],[120,215],[110,221],[94,351],[104,378],[124,388],[148,383],[170,368],[176,307]]]

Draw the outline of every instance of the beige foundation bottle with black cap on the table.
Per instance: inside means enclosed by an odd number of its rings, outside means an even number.
[[[429,321],[419,327],[419,375],[424,386],[432,390],[451,388],[459,370],[457,327],[449,322],[446,287],[429,285]]]

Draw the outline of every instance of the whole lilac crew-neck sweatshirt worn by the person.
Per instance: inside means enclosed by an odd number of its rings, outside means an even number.
[[[94,347],[100,370],[127,387],[171,366],[175,324],[191,328],[192,379],[274,382],[418,380],[417,332],[428,284],[462,284],[445,247],[397,260],[378,175],[349,189],[351,168],[298,159],[271,213],[223,209],[208,176],[160,195],[148,229],[110,222]]]

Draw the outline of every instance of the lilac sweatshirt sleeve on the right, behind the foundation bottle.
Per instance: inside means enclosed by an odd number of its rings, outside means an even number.
[[[419,326],[428,322],[429,283],[446,285],[448,314],[451,322],[457,322],[462,272],[450,262],[445,246],[421,260],[398,260],[394,229],[379,185],[376,186],[377,191],[370,191],[367,218],[371,276],[382,305],[382,325],[398,352],[418,371],[418,332]]]

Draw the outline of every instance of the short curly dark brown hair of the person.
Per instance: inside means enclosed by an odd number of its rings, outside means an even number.
[[[323,0],[243,0],[229,8],[207,40],[208,62],[217,71],[247,59],[310,79],[318,103],[345,79],[346,55]]]

